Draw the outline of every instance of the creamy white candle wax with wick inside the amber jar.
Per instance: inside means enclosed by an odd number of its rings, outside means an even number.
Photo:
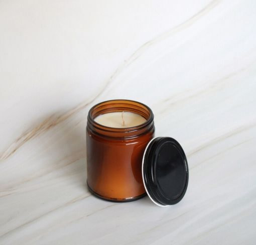
[[[101,125],[109,127],[133,127],[142,124],[146,119],[134,112],[109,112],[94,118]]]

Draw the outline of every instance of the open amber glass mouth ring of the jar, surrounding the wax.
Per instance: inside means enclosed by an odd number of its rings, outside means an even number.
[[[140,114],[146,121],[131,127],[110,127],[102,125],[94,120],[95,117],[101,114],[109,112],[129,111]],[[130,99],[111,99],[104,102],[100,102],[91,107],[88,112],[88,122],[92,123],[94,127],[106,131],[118,131],[118,132],[131,132],[141,128],[144,128],[152,123],[154,120],[153,111],[149,106],[144,103],[130,100]]]

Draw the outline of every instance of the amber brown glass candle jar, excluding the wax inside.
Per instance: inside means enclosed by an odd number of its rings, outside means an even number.
[[[117,111],[138,113],[146,121],[133,127],[116,128],[94,120],[100,114]],[[144,196],[142,158],[154,132],[153,112],[143,103],[115,99],[94,105],[88,113],[86,130],[90,191],[112,201],[131,201]]]

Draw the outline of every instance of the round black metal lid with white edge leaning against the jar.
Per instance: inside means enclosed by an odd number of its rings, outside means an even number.
[[[171,137],[153,138],[144,152],[142,175],[145,189],[157,205],[179,202],[188,186],[188,163],[178,141]]]

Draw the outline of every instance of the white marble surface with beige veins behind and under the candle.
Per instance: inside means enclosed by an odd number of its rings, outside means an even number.
[[[255,244],[254,0],[0,1],[0,244]],[[184,199],[86,188],[97,102],[148,104],[187,154]]]

